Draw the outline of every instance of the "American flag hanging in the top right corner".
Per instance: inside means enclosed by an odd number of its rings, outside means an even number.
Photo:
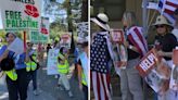
[[[168,18],[168,21],[174,24],[174,11],[178,8],[178,0],[160,0],[158,11],[162,15]]]

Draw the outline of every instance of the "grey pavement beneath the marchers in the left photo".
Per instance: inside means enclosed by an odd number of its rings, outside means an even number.
[[[38,91],[39,95],[35,96],[33,93],[33,85],[29,83],[28,86],[28,98],[27,100],[82,100],[84,95],[78,88],[78,82],[74,77],[74,65],[71,65],[69,74],[67,75],[71,84],[71,89],[74,95],[73,98],[69,98],[67,92],[65,90],[60,90],[56,88],[58,78],[55,78],[53,75],[48,76],[47,75],[47,67],[46,64],[42,63],[42,67],[38,70],[38,78],[37,78],[37,85],[38,85]],[[4,80],[5,76],[0,78],[0,100],[9,100],[9,93],[7,90],[7,84]]]

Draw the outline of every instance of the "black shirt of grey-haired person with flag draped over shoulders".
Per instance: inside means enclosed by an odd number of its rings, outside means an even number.
[[[128,40],[129,45],[134,46],[130,40]],[[131,49],[127,49],[128,52],[128,60],[137,59],[140,57],[140,54]]]

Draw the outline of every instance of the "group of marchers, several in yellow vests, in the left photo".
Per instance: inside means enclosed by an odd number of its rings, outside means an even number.
[[[69,49],[66,47],[56,48],[48,43],[44,50],[44,46],[41,43],[34,48],[33,42],[26,42],[26,50],[22,54],[16,54],[14,51],[8,49],[16,37],[15,33],[8,33],[5,35],[7,45],[0,49],[0,72],[3,75],[5,74],[9,100],[27,100],[27,90],[30,80],[33,83],[33,93],[35,96],[40,95],[37,85],[37,73],[40,67],[44,67],[43,65],[47,64],[48,61],[44,61],[43,54],[47,51],[48,57],[50,49],[60,49],[59,55],[56,57],[59,72],[56,87],[60,87],[60,90],[65,89],[68,97],[74,97],[67,77],[69,65],[72,65],[69,62],[74,63],[74,61],[69,61],[68,55],[73,54],[69,52]],[[76,51],[78,54],[75,57],[75,63],[77,65],[75,68],[78,70],[78,78],[76,80],[79,80],[78,88],[84,91],[84,100],[88,100],[88,41],[85,40],[76,47],[80,47]]]

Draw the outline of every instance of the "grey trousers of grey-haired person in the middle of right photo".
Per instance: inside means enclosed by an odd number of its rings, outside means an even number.
[[[139,59],[128,61],[126,70],[120,71],[120,90],[123,100],[143,100],[141,77],[135,66]]]

